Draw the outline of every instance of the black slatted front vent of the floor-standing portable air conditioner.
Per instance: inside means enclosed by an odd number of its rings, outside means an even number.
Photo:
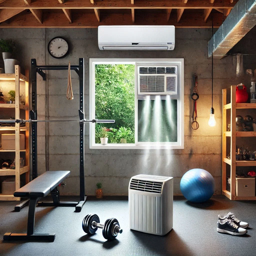
[[[161,194],[163,182],[132,179],[130,189]]]

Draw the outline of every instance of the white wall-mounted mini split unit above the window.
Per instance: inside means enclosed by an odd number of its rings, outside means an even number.
[[[100,50],[174,50],[174,26],[99,26]]]

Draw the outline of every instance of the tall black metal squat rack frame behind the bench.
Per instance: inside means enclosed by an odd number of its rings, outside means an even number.
[[[84,120],[84,59],[79,58],[79,65],[71,65],[71,70],[76,71],[79,76],[79,117]],[[36,59],[31,59],[31,94],[32,94],[32,111],[30,111],[30,118],[37,120],[37,73],[46,80],[46,74],[43,70],[68,70],[68,66],[37,66]],[[53,202],[38,202],[38,206],[73,206],[76,207],[76,212],[80,212],[86,202],[85,182],[84,182],[84,122],[80,125],[80,201],[79,202],[60,202],[59,194],[53,198]],[[32,179],[37,177],[37,122],[31,123],[32,128]],[[59,193],[59,192],[58,192]],[[29,204],[29,200],[15,206],[14,211],[20,211],[23,207]]]

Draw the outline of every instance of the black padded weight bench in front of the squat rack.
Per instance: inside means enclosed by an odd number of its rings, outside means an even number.
[[[4,240],[49,240],[54,241],[55,233],[49,234],[35,234],[35,209],[36,204],[40,197],[45,197],[51,193],[53,199],[53,205],[58,206],[60,204],[59,191],[57,186],[66,179],[70,174],[70,171],[47,171],[24,187],[14,192],[16,197],[28,197],[28,226],[26,234],[18,233],[5,233]],[[65,203],[65,202],[63,202]]]

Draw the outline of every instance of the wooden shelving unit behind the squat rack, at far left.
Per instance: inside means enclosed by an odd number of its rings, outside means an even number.
[[[14,74],[0,74],[1,81],[14,81],[15,82],[15,103],[14,104],[0,104],[0,110],[4,112],[6,108],[15,109],[15,119],[20,119],[20,110],[25,111],[26,120],[29,119],[29,71],[26,70],[25,76],[20,73],[20,67],[15,65]],[[25,105],[20,104],[20,81],[25,82]],[[26,184],[29,182],[29,123],[26,126],[20,127],[20,123],[15,123],[15,127],[0,127],[0,131],[14,131],[15,132],[15,150],[0,150],[1,152],[15,152],[15,169],[0,169],[0,176],[12,176],[15,175],[15,188],[20,188],[20,175],[26,173]],[[19,146],[19,134],[20,131],[25,131],[25,150],[20,150]],[[20,152],[25,152],[25,164],[26,166],[20,168],[19,159]],[[3,195],[0,193],[0,200],[18,201],[19,197],[13,195]]]

